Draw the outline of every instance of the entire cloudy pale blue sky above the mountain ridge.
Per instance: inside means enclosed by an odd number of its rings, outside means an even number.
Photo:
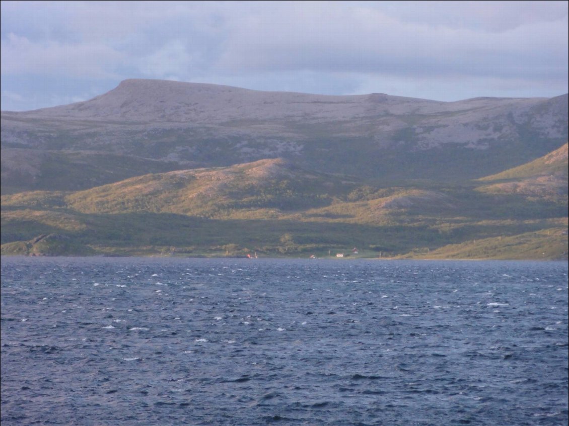
[[[2,1],[1,109],[127,78],[458,101],[568,89],[563,1]]]

